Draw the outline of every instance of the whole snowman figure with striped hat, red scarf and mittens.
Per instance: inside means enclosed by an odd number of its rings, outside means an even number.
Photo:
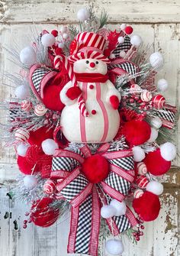
[[[117,134],[121,94],[108,79],[110,61],[103,54],[105,44],[104,37],[92,32],[79,33],[72,41],[69,61],[73,63],[78,86],[69,81],[60,92],[65,104],[60,126],[68,141],[104,143]],[[85,101],[87,117],[79,110],[80,95]]]

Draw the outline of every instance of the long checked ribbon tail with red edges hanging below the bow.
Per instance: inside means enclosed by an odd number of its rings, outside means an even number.
[[[72,206],[71,213],[68,253],[98,256],[100,203],[95,186],[80,206]]]

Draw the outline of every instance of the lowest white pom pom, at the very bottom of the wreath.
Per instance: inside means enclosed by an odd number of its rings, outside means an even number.
[[[121,240],[110,239],[106,242],[105,249],[108,254],[121,255],[124,251],[124,246]]]

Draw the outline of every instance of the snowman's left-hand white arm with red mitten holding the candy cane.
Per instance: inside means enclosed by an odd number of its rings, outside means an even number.
[[[72,81],[66,83],[66,86],[60,92],[60,99],[64,105],[72,105],[76,102],[81,90],[79,87],[72,86]]]

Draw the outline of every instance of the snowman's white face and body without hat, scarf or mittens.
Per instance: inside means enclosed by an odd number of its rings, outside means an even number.
[[[92,64],[94,63],[94,64]],[[101,60],[78,60],[74,63],[75,73],[92,73],[104,75],[107,73],[107,64]],[[104,143],[111,141],[117,134],[120,125],[120,116],[117,109],[113,109],[110,97],[121,95],[110,80],[101,82],[79,82],[82,97],[85,100],[88,117],[84,117],[77,99],[70,100],[66,92],[72,87],[72,82],[64,86],[60,92],[60,99],[66,105],[63,109],[60,126],[68,141],[83,143]]]

